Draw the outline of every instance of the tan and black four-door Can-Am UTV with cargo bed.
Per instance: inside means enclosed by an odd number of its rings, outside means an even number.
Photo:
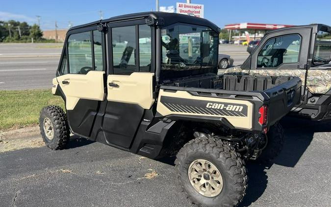
[[[62,149],[72,132],[150,158],[177,156],[194,203],[238,205],[244,160],[277,154],[278,121],[300,101],[301,80],[218,76],[218,31],[205,19],[162,12],[71,28],[52,88],[66,113],[42,109],[46,145]]]

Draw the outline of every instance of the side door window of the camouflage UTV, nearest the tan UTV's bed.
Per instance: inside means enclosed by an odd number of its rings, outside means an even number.
[[[257,68],[277,68],[283,63],[298,63],[301,36],[298,34],[270,39],[257,56]]]

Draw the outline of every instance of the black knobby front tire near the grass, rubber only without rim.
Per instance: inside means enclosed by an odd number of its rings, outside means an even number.
[[[51,120],[54,130],[52,139],[49,139],[45,134],[43,126],[45,118],[49,118]],[[67,116],[60,106],[50,105],[41,110],[39,116],[39,128],[46,146],[52,150],[61,150],[69,142],[70,130],[67,123]]]

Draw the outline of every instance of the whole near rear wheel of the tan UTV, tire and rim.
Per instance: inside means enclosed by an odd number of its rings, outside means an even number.
[[[244,161],[220,139],[204,136],[189,141],[175,164],[184,191],[198,206],[234,207],[246,193]]]

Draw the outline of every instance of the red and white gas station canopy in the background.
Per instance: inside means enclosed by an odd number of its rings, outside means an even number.
[[[257,24],[257,23],[239,23],[226,25],[224,28],[229,30],[237,29],[256,29],[256,30],[272,30],[279,29],[283,27],[290,27],[293,25],[273,25],[273,24]]]

